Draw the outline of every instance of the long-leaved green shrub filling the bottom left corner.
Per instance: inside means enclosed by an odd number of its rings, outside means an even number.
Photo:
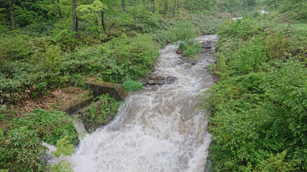
[[[47,148],[33,130],[23,126],[12,129],[4,137],[0,135],[0,169],[8,171],[40,171],[40,156]]]

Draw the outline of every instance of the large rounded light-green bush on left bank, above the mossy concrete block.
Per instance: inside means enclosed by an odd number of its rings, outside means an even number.
[[[159,47],[147,34],[138,35],[135,38],[122,35],[110,41],[107,47],[112,50],[111,57],[120,64],[120,68],[123,70],[121,80],[125,77],[125,73],[126,76],[133,79],[149,75],[159,56]],[[109,71],[113,72],[112,69]],[[109,77],[110,81],[120,81],[114,80],[112,75]]]

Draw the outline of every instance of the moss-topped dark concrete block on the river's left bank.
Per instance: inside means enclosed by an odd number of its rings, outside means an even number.
[[[124,101],[128,95],[121,84],[99,81],[89,82],[86,83],[86,85],[93,90],[94,97],[109,94],[110,97],[113,97],[116,101]]]

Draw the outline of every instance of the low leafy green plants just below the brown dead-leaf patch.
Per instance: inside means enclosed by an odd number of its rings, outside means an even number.
[[[42,109],[33,110],[34,113],[27,113],[24,118],[15,118],[15,126],[28,126],[29,129],[37,130],[37,135],[48,144],[56,144],[64,136],[71,144],[78,143],[72,119],[68,114],[61,111],[46,111]]]

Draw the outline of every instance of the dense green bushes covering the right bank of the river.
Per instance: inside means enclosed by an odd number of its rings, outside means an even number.
[[[212,73],[220,80],[203,93],[202,108],[211,111],[212,169],[305,171],[305,61],[299,53],[292,57],[297,50],[283,43],[290,39],[286,33],[250,32],[248,25],[257,21],[244,20],[226,22],[218,31]]]

